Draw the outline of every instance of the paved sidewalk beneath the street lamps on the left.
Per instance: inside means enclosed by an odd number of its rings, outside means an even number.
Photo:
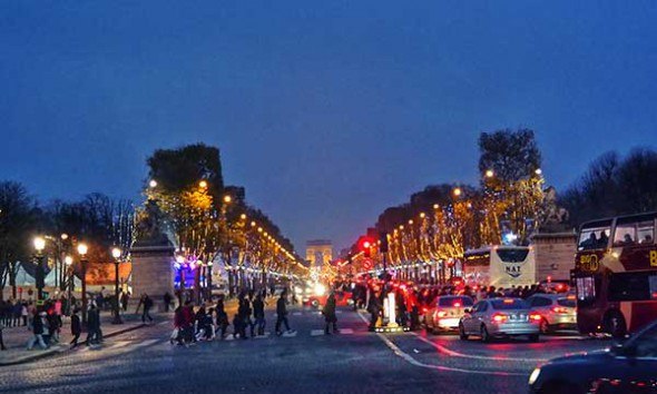
[[[169,319],[169,315],[170,314],[165,313],[153,314],[156,321]],[[102,337],[107,338],[143,327],[144,324],[141,323],[140,317],[140,315],[126,314],[121,316],[124,324],[111,324],[111,314],[102,313],[100,316]],[[27,349],[27,344],[32,337],[32,333],[24,326],[4,328],[2,336],[7,351],[0,352],[0,366],[28,363],[53,354],[68,352],[68,344],[72,339],[72,335],[70,334],[70,318],[66,316],[63,316],[63,326],[61,327],[59,344],[55,344],[47,349],[41,349],[38,345],[31,351]],[[79,342],[84,343],[86,338],[87,333],[85,331],[82,332]]]

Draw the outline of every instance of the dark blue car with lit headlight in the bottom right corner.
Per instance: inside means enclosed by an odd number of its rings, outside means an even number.
[[[625,343],[553,358],[529,377],[533,394],[657,393],[657,322]]]

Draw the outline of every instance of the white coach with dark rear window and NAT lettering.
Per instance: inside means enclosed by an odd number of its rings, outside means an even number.
[[[470,287],[532,285],[537,282],[533,250],[529,246],[487,246],[467,250],[463,254],[463,279]]]

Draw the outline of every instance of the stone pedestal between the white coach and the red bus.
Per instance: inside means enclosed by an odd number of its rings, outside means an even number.
[[[536,258],[537,282],[552,279],[569,279],[570,269],[575,268],[575,253],[577,252],[577,236],[575,233],[546,233],[532,237]]]

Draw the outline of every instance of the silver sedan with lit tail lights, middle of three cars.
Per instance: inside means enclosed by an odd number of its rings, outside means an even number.
[[[463,341],[470,335],[478,335],[481,342],[521,335],[531,342],[539,341],[541,316],[531,313],[529,304],[521,298],[482,299],[464,312],[459,322],[459,336]]]

